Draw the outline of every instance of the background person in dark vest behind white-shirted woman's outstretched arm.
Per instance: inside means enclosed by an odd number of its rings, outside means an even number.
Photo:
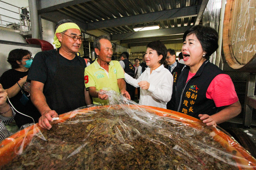
[[[122,54],[120,55],[120,65],[122,66],[122,68],[124,69],[125,73],[129,74],[131,77],[135,77],[135,68],[132,65],[132,63],[128,60],[129,59],[129,54],[128,52],[122,52]],[[128,91],[128,93],[131,96],[131,100],[134,100],[134,96],[135,96],[135,87],[130,85],[129,83],[126,83],[126,91]]]

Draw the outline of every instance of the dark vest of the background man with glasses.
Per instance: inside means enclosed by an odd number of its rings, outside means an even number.
[[[185,66],[184,64],[177,62],[177,66],[172,71],[172,76],[173,76],[172,99],[167,103],[166,108],[173,111],[175,110],[176,85],[177,85],[178,78],[180,77],[182,68],[184,66]]]

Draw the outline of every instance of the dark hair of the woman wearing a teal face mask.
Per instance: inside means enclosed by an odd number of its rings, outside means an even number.
[[[13,69],[19,68],[20,65],[16,62],[16,60],[21,60],[24,56],[28,54],[30,55],[30,57],[32,56],[32,53],[28,50],[24,50],[22,48],[14,49],[9,52],[7,61],[11,64]]]

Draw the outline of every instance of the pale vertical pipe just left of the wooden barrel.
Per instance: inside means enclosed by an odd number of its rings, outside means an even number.
[[[223,35],[223,22],[224,22],[225,7],[226,7],[226,0],[221,0],[221,14],[220,14],[220,22],[219,22],[219,30],[218,30],[219,48],[216,51],[216,62],[215,62],[215,65],[217,65],[218,67],[220,66],[220,62],[221,62],[221,47],[222,47],[222,35]]]

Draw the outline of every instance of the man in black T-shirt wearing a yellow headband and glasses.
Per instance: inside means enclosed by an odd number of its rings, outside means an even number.
[[[61,20],[53,42],[57,49],[34,57],[27,79],[31,80],[31,101],[41,113],[38,124],[43,128],[50,129],[49,121],[58,114],[92,103],[84,86],[86,63],[76,55],[82,41],[79,26]]]

